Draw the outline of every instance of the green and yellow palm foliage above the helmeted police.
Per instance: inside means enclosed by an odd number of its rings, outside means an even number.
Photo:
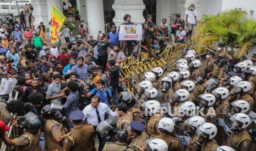
[[[195,38],[200,39],[200,45],[222,39],[228,47],[235,50],[235,57],[240,59],[250,47],[256,45],[256,21],[247,20],[246,14],[246,11],[236,8],[204,16]]]

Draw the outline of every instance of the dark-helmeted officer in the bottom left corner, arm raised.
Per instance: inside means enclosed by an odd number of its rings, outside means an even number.
[[[13,124],[15,124],[14,126],[18,127],[19,131],[21,133],[23,132],[23,134],[18,138],[10,140],[6,132],[4,132],[3,141],[6,145],[15,146],[19,150],[24,151],[41,150],[39,146],[41,120],[36,114],[28,112],[24,116],[24,121],[21,125],[18,125],[17,120],[14,120]]]

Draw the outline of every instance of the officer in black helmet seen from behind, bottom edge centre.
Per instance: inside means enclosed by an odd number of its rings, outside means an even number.
[[[125,129],[121,129],[116,134],[116,142],[107,142],[102,149],[102,151],[112,151],[112,150],[134,150],[132,147],[128,147],[126,142],[128,138],[128,132]]]

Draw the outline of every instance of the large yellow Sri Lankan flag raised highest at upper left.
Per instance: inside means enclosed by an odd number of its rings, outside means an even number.
[[[58,31],[61,28],[66,17],[54,6],[52,6],[51,14],[51,40],[56,43],[59,40]]]

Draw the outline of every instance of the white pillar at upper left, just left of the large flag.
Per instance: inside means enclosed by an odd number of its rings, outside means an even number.
[[[34,7],[33,16],[35,18],[34,26],[37,27],[40,25],[40,22],[43,22],[45,25],[48,25],[48,14],[47,14],[47,1],[46,0],[33,0],[31,5]],[[48,10],[50,11],[50,10]]]

